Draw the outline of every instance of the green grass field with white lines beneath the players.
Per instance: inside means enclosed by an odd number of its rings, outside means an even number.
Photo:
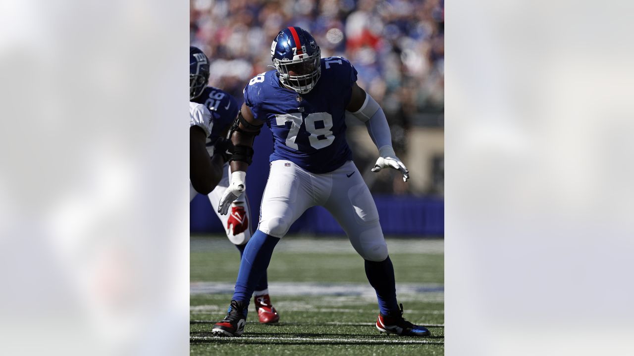
[[[441,239],[387,238],[404,317],[432,336],[386,336],[363,259],[345,238],[286,236],[269,265],[269,293],[280,314],[261,325],[250,305],[240,338],[214,336],[240,264],[238,250],[221,236],[191,239],[191,355],[443,355],[444,264]]]

